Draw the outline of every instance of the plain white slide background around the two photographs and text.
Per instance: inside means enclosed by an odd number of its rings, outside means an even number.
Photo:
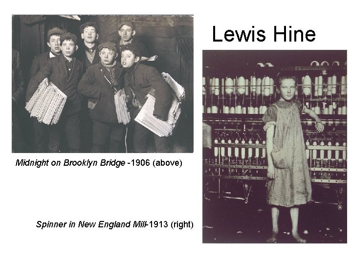
[[[0,263],[317,263],[342,262],[349,244],[202,244],[201,77],[203,49],[349,49],[348,1],[75,1],[7,2],[1,24]],[[29,5],[29,6],[26,6]],[[9,8],[9,7],[8,7]],[[194,15],[194,154],[11,154],[11,14]],[[227,29],[263,29],[264,42],[212,42]],[[274,25],[315,31],[314,42],[274,43]],[[350,51],[350,50],[349,50]],[[349,54],[348,51],[348,54]],[[350,123],[350,122],[348,122]],[[100,160],[164,158],[181,168],[15,167],[16,159]],[[236,213],[236,212],[234,212]],[[70,220],[192,220],[192,230],[171,228],[36,228]],[[349,226],[350,227],[350,226]],[[270,228],[268,226],[268,228]],[[351,233],[351,232],[349,232]],[[348,236],[348,241],[351,237]]]

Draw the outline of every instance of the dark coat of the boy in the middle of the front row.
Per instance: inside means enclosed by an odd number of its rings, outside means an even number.
[[[117,63],[115,67],[115,78],[118,82],[116,90],[123,88],[122,72],[122,66]],[[117,123],[114,102],[115,89],[104,75],[108,77],[110,73],[101,62],[90,66],[78,85],[78,92],[88,97],[89,116],[92,119]]]

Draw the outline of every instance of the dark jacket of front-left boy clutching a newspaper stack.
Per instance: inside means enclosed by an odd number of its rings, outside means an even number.
[[[81,99],[77,92],[78,83],[82,76],[82,63],[74,59],[71,74],[68,75],[63,54],[48,60],[41,70],[30,80],[26,93],[26,102],[32,98],[40,83],[49,78],[57,88],[67,95],[63,114],[71,115],[81,110]]]

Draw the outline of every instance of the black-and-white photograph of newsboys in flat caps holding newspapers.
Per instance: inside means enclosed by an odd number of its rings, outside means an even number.
[[[193,144],[193,16],[12,16],[13,153]]]

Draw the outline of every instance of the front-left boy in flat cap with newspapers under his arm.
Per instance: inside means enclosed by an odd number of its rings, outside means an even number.
[[[44,64],[29,82],[26,93],[26,102],[28,102],[40,83],[45,78],[49,78],[49,81],[67,95],[59,122],[48,126],[49,153],[60,151],[61,139],[64,134],[71,153],[78,153],[81,147],[79,121],[81,99],[77,92],[77,86],[82,76],[83,67],[82,63],[74,57],[74,53],[78,49],[76,43],[77,38],[74,34],[62,34],[60,36],[62,54]]]

